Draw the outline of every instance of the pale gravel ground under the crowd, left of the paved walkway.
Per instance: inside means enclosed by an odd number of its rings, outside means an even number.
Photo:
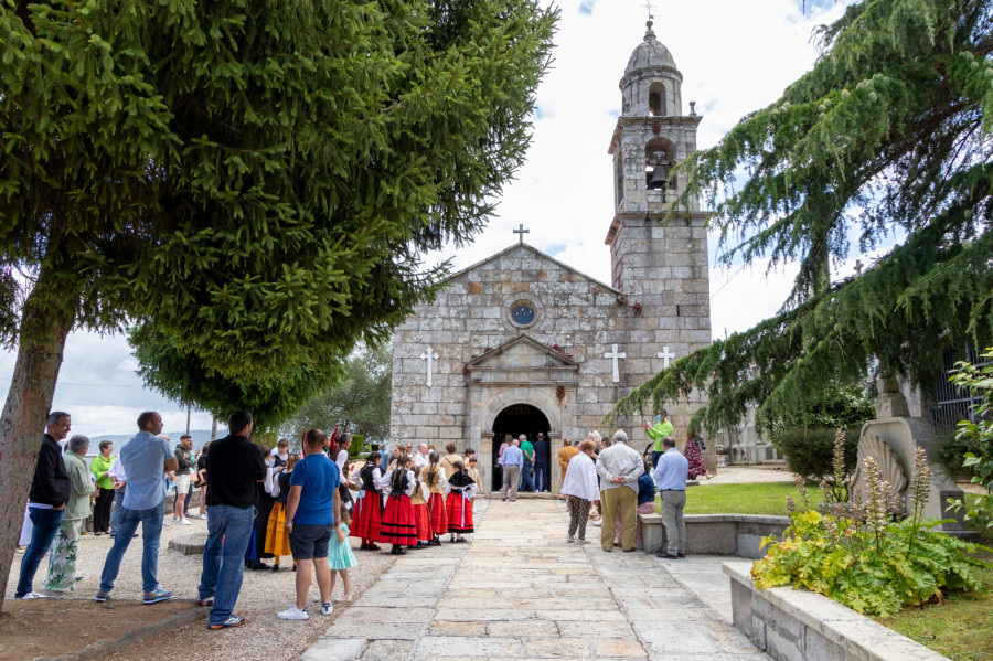
[[[195,511],[195,510],[194,510]],[[171,515],[170,515],[171,519]],[[168,548],[169,540],[185,535],[206,535],[206,521],[191,519],[192,525],[166,526],[162,529],[162,542],[159,550],[159,582],[166,589],[173,590],[178,599],[195,599],[196,586],[200,584],[202,556],[182,555]],[[140,526],[139,526],[140,531]],[[353,547],[359,541],[351,540]],[[104,566],[110,537],[84,535],[79,543],[79,559],[76,573],[83,580],[76,584],[75,599],[92,599],[99,585],[99,574]],[[386,547],[388,548],[388,547]],[[429,552],[424,552],[429,553]],[[394,556],[388,553],[355,552],[359,566],[351,569],[353,600],[375,582],[380,574],[393,565]],[[23,553],[18,553],[11,568],[7,585],[7,598],[13,598],[18,583],[18,573]],[[271,561],[266,561],[270,563]],[[313,615],[306,621],[282,621],[276,614],[287,608],[295,600],[293,577],[289,567],[292,561],[282,558],[284,566],[278,573],[245,571],[242,591],[235,612],[248,618],[248,623],[236,629],[209,631],[206,620],[180,629],[169,636],[152,638],[132,648],[126,648],[108,659],[114,661],[160,660],[175,655],[186,660],[212,659],[265,659],[281,661],[298,659],[311,640],[320,636],[324,629],[348,608],[341,600],[344,590],[339,579],[334,585],[332,601],[334,615],[322,617],[320,609],[311,608]],[[34,587],[44,585],[47,559],[42,561],[35,576]],[[141,598],[141,537],[131,540],[125,554],[120,574],[114,588],[114,600]],[[318,591],[314,583],[310,590],[311,601],[317,605]],[[113,603],[113,601],[111,601]],[[149,606],[149,609],[156,606]],[[182,649],[182,653],[179,650]]]

